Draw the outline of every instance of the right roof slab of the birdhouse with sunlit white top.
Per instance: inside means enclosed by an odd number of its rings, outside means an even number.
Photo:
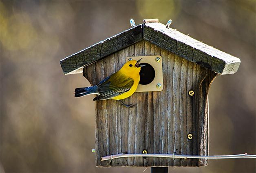
[[[143,39],[218,74],[234,74],[240,59],[161,23],[145,24]]]

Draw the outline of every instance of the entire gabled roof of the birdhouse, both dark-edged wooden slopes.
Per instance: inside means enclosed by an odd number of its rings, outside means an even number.
[[[164,24],[145,23],[68,56],[60,61],[60,65],[64,74],[82,73],[84,67],[142,40],[217,74],[234,74],[241,62],[239,58],[197,41],[176,29],[166,28]]]

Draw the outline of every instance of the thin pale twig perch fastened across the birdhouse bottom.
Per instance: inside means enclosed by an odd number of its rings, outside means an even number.
[[[101,161],[104,160],[113,160],[117,158],[126,158],[126,157],[160,157],[160,158],[195,158],[195,159],[231,159],[231,158],[254,158],[256,159],[256,155],[250,154],[236,154],[236,155],[222,155],[222,156],[191,156],[191,155],[178,155],[178,154],[115,154],[111,156],[104,156],[101,158]]]

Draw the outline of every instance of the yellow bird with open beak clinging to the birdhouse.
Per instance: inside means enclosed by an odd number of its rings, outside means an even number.
[[[93,101],[115,99],[119,101],[121,105],[132,108],[136,104],[125,104],[121,99],[130,97],[137,89],[140,80],[139,72],[141,67],[145,66],[139,64],[141,59],[126,62],[119,71],[108,76],[95,86],[76,88],[75,97],[96,94],[97,97],[95,97]]]

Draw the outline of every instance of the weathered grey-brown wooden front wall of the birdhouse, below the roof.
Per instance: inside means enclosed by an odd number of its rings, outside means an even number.
[[[97,167],[198,167],[207,160],[170,158],[118,158],[101,161],[102,156],[121,153],[208,155],[208,90],[216,73],[187,61],[148,41],[140,41],[84,67],[92,85],[118,71],[127,56],[161,55],[163,85],[160,92],[134,93],[124,99],[125,108],[115,100],[95,102],[95,149]],[[113,63],[115,62],[115,63]],[[193,90],[191,97],[188,92]],[[187,138],[193,134],[192,140]]]

